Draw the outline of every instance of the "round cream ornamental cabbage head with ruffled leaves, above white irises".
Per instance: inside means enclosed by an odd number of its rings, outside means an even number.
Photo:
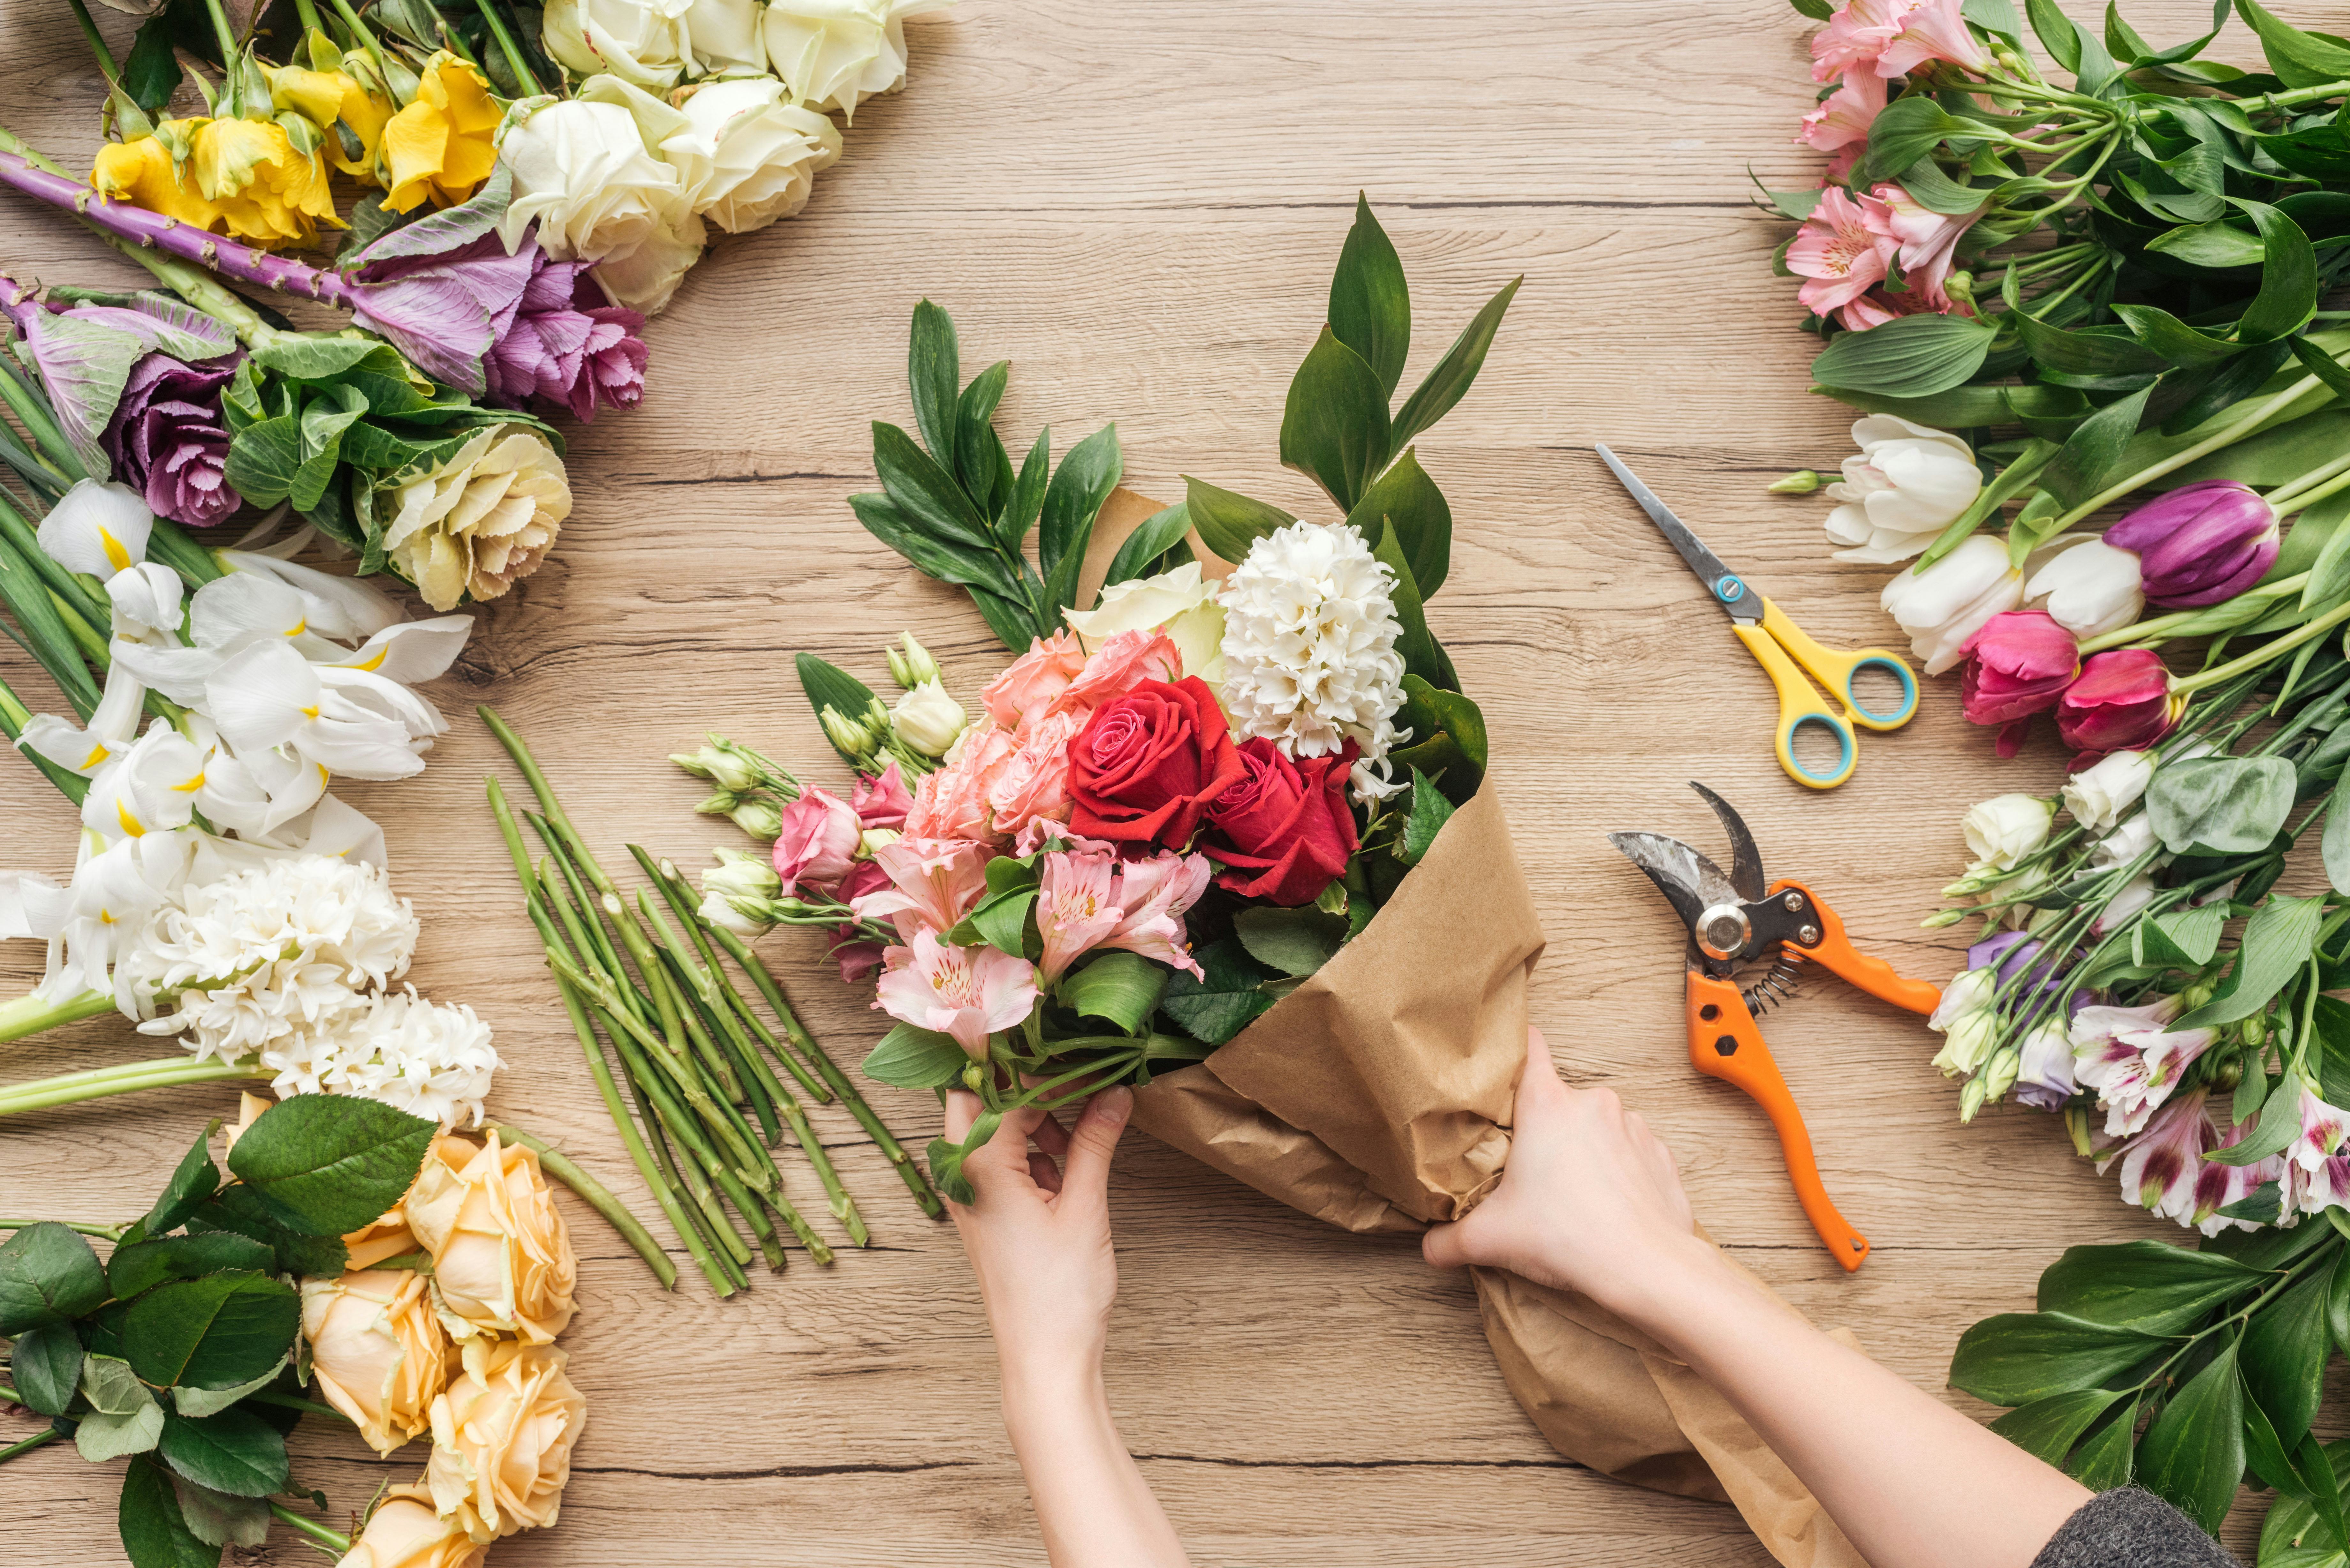
[[[519,425],[482,425],[439,468],[395,480],[390,498],[397,512],[383,550],[432,609],[456,609],[468,592],[503,597],[538,569],[571,515],[564,461]]]

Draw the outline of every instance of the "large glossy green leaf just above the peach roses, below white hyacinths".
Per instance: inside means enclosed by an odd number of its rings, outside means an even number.
[[[378,1100],[294,1095],[254,1117],[228,1168],[289,1229],[341,1237],[407,1194],[437,1133]]]

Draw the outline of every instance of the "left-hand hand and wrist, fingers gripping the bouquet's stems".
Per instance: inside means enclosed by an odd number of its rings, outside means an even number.
[[[1020,1110],[964,1161],[978,1201],[947,1211],[980,1279],[1006,1401],[1025,1387],[1069,1389],[1072,1380],[1100,1378],[1119,1295],[1109,1157],[1133,1105],[1130,1088],[1104,1088],[1069,1131],[1041,1110]],[[961,1140],[978,1114],[978,1095],[947,1095],[947,1138]]]

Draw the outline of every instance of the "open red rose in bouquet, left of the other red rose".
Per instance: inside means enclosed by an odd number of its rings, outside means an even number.
[[[1095,708],[1069,743],[1069,830],[1182,849],[1238,778],[1241,752],[1215,693],[1198,677],[1142,682]]]

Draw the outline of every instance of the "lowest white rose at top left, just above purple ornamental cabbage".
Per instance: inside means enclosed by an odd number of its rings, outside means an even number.
[[[691,223],[677,169],[653,158],[620,103],[545,103],[508,127],[498,155],[515,172],[515,200],[498,223],[508,247],[536,221],[548,256],[599,261]]]

